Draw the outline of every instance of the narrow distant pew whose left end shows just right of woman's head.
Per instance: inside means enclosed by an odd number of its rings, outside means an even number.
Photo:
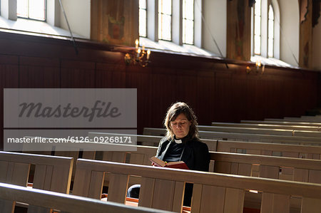
[[[273,124],[263,124],[263,123],[223,123],[223,122],[212,122],[212,125],[224,126],[224,127],[238,127],[238,128],[265,128],[265,129],[280,129],[280,130],[321,131],[320,126],[303,126],[303,125],[273,125]],[[198,125],[198,128],[200,127],[201,126]]]

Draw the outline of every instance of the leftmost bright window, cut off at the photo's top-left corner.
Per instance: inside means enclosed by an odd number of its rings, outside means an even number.
[[[18,17],[46,20],[46,0],[17,0],[16,14]]]

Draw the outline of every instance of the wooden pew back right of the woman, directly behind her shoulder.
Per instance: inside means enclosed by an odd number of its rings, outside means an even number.
[[[293,157],[210,152],[214,172],[321,184],[321,161]]]

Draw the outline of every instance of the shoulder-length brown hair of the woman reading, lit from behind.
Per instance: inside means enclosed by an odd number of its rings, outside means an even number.
[[[168,108],[166,117],[164,120],[164,125],[167,130],[166,137],[173,139],[174,138],[174,132],[170,126],[170,121],[174,121],[180,113],[183,113],[186,118],[190,121],[190,130],[188,131],[188,136],[191,138],[198,138],[198,128],[196,125],[198,125],[197,118],[193,112],[193,110],[183,102],[177,102]]]

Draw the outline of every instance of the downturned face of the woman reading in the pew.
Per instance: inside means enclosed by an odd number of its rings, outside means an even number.
[[[190,121],[183,113],[180,113],[175,120],[170,121],[170,127],[172,128],[176,139],[180,139],[188,135],[190,124]]]

